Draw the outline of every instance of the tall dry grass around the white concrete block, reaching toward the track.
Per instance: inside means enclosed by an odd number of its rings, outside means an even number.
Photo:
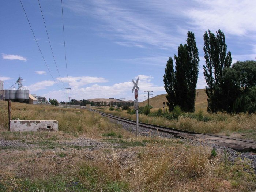
[[[120,126],[110,123],[106,118],[98,114],[91,113],[83,109],[65,109],[52,106],[38,106],[12,102],[12,119],[38,119],[38,120],[57,120],[59,131],[63,132],[7,132],[8,110],[7,102],[0,101],[0,138],[8,140],[17,139],[40,139],[56,138],[72,139],[74,134],[84,133],[92,138],[101,137],[103,133],[115,131],[124,138],[130,136]],[[95,130],[95,128],[97,130]]]

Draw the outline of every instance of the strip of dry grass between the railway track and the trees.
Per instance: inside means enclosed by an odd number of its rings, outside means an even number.
[[[136,120],[136,115],[130,115],[126,111],[116,112],[104,110],[116,116]],[[149,117],[140,114],[139,121],[164,127],[172,127],[181,130],[193,131],[198,133],[213,133],[238,138],[256,140],[256,114],[248,116],[247,114],[205,114],[210,120],[199,121],[189,117],[180,116],[178,120],[167,120],[162,117]]]

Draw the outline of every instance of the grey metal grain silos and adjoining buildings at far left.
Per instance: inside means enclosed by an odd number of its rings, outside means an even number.
[[[0,99],[1,100],[11,100],[13,102],[20,102],[20,103],[31,103],[37,104],[37,99],[35,99],[31,94],[29,94],[29,90],[26,89],[22,85],[22,78],[19,77],[16,83],[18,83],[18,89],[15,87],[4,90],[4,81],[0,81]]]

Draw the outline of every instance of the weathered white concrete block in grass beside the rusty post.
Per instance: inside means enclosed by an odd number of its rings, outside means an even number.
[[[55,120],[11,120],[10,131],[58,131]]]

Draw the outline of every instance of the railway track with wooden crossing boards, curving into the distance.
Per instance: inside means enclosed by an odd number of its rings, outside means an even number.
[[[103,113],[94,109],[90,109],[90,110],[93,112],[99,113],[105,117],[109,117],[118,121],[136,125],[136,121],[133,121],[133,120],[113,116],[111,114]],[[231,138],[231,137],[213,135],[213,134],[196,133],[196,132],[184,131],[180,129],[163,127],[159,125],[147,124],[142,122],[139,122],[139,127],[144,127],[148,129],[157,130],[159,132],[169,133],[174,135],[174,137],[180,138],[180,139],[192,139],[200,142],[206,142],[206,143],[216,144],[219,146],[228,147],[238,152],[248,152],[248,151],[256,152],[256,141],[252,141],[252,140]]]

